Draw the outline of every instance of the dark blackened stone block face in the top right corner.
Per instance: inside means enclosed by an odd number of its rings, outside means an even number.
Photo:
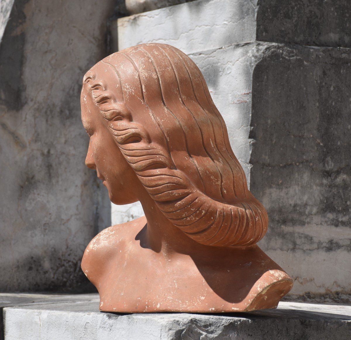
[[[259,0],[257,40],[351,47],[350,20],[350,1]]]

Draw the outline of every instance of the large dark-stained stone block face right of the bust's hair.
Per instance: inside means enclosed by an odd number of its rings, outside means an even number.
[[[259,245],[295,279],[293,294],[347,302],[350,57],[295,51],[274,52],[253,72],[250,190],[270,218]]]

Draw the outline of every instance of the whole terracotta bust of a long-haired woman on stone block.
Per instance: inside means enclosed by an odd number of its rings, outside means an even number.
[[[257,242],[268,217],[247,188],[199,68],[165,44],[127,48],[83,79],[86,165],[145,216],[101,231],[82,269],[108,312],[275,308],[292,280]]]

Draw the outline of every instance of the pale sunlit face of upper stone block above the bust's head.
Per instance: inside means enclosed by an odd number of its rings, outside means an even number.
[[[120,18],[117,32],[112,31],[113,48],[166,43],[189,54],[247,43],[256,36],[256,6],[252,2],[198,0]]]

